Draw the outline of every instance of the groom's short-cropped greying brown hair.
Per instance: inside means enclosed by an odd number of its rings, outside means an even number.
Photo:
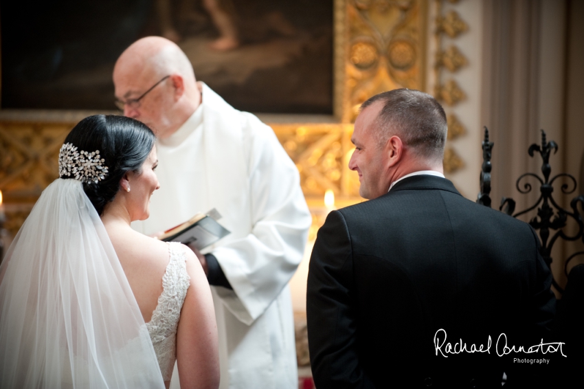
[[[374,102],[383,104],[374,134],[380,145],[397,135],[420,157],[442,161],[448,126],[446,113],[435,98],[414,89],[394,89],[363,102],[361,110]]]

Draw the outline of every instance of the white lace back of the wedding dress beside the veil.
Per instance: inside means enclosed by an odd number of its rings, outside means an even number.
[[[162,291],[152,319],[146,323],[164,381],[170,381],[177,359],[177,326],[190,284],[180,243],[169,243],[170,260],[162,276]]]

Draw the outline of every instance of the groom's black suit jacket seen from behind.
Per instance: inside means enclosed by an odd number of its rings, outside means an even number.
[[[500,388],[504,371],[509,386],[521,381],[513,357],[535,356],[499,357],[495,345],[504,333],[508,346],[532,346],[548,331],[555,298],[538,248],[527,223],[464,199],[441,177],[408,177],[331,212],[306,296],[317,388]],[[490,353],[446,352],[460,340],[486,350],[489,335]]]

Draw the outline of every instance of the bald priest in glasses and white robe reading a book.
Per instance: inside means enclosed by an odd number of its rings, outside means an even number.
[[[158,137],[160,190],[150,218],[133,227],[155,234],[216,208],[231,231],[196,252],[213,285],[221,388],[297,388],[287,285],[311,216],[295,165],[269,126],[196,82],[186,55],[165,38],[128,47],[113,82],[124,115]]]

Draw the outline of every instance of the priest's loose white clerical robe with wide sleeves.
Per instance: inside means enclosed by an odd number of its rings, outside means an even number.
[[[297,388],[288,282],[311,216],[295,165],[269,126],[204,84],[199,109],[157,142],[157,154],[160,189],[150,218],[133,227],[153,234],[216,208],[231,231],[203,250],[214,254],[234,289],[211,288],[220,387]]]

